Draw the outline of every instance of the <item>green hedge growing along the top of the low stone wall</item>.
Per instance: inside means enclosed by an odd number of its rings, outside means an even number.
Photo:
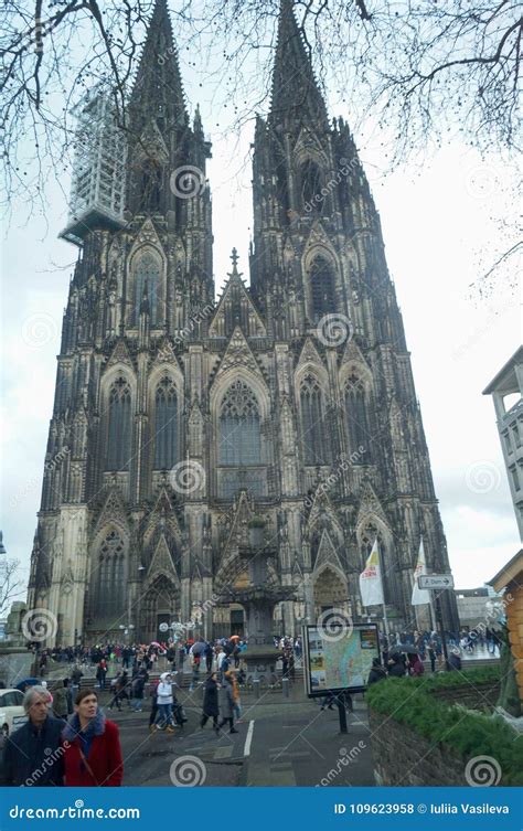
[[[523,786],[523,736],[516,736],[501,716],[487,716],[453,706],[433,691],[500,681],[499,667],[429,678],[391,678],[366,692],[371,710],[389,715],[429,742],[452,748],[465,760],[492,756],[501,766],[502,784]]]

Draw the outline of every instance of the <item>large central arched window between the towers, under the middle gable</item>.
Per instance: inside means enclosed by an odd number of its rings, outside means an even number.
[[[220,464],[260,465],[260,418],[255,394],[243,381],[228,388],[220,413]]]

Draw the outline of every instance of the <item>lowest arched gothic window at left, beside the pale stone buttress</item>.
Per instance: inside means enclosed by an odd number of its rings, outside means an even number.
[[[100,545],[95,577],[96,601],[94,615],[107,620],[126,610],[125,545],[117,531],[109,531]]]

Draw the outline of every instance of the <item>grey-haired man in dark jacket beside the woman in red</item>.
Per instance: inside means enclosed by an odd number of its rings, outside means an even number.
[[[31,686],[23,700],[29,721],[6,741],[2,785],[53,787],[64,784],[63,721],[50,715],[51,695]]]

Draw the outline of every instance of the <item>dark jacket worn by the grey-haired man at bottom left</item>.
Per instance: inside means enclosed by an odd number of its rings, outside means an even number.
[[[40,731],[28,722],[6,742],[1,784],[51,787],[64,784],[63,721],[49,715]]]

